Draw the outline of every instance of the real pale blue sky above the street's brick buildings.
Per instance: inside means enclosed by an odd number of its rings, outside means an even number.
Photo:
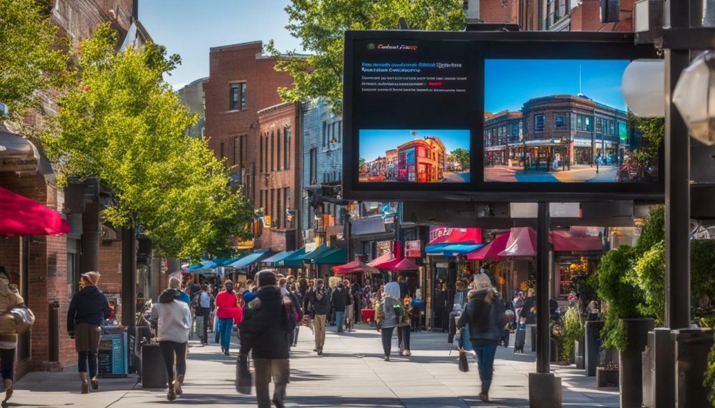
[[[290,0],[139,0],[139,20],[154,42],[179,54],[167,76],[174,89],[209,76],[209,48],[271,39],[281,51],[302,51],[285,29]]]

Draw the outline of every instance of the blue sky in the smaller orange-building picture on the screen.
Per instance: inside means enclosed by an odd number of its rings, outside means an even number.
[[[415,136],[412,135],[413,130],[417,132]],[[373,161],[378,156],[384,157],[387,150],[395,149],[400,144],[414,140],[415,137],[422,139],[424,136],[438,136],[442,143],[445,144],[448,152],[458,147],[469,149],[469,130],[360,129],[360,157],[366,161]]]

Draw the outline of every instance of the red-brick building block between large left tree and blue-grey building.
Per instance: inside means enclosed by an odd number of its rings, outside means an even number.
[[[232,178],[244,186],[255,208],[267,208],[271,212],[268,215],[273,215],[271,225],[264,229],[264,235],[255,244],[280,251],[295,246],[286,239],[290,234],[286,232],[284,211],[286,208],[297,210],[300,194],[300,138],[297,137],[300,120],[296,119],[300,105],[282,104],[277,89],[292,86],[293,79],[290,74],[275,71],[275,59],[263,55],[262,51],[261,41],[217,46],[210,50],[209,79],[203,83],[204,136],[208,139],[209,149],[230,166]],[[280,134],[281,143],[285,141],[285,125],[290,134],[290,158],[281,144],[280,170],[277,170],[279,150],[275,138]],[[283,159],[287,158],[290,160],[285,169]],[[280,205],[278,188],[290,189],[281,191]],[[286,192],[291,207],[284,205]],[[266,204],[269,205],[266,207]],[[277,212],[279,208],[282,209],[280,214]],[[291,217],[297,222],[297,214]],[[279,218],[280,227],[274,227],[274,220]]]

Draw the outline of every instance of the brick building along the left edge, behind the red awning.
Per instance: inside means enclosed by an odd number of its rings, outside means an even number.
[[[136,1],[132,0],[52,1],[49,18],[59,26],[59,35],[68,36],[74,46],[94,34],[97,24],[109,21],[119,31],[121,40],[117,47],[120,48],[149,39],[136,11]],[[42,126],[44,115],[54,114],[54,100],[48,96],[42,100],[43,111],[28,114],[26,124]],[[0,124],[0,144],[17,137],[14,133],[20,129],[15,124]],[[69,209],[66,204],[68,194],[56,186],[56,174],[41,149],[31,140],[21,140],[26,144],[29,156],[4,156],[13,152],[3,149],[0,153],[0,186],[66,214],[71,232],[64,236],[0,237],[0,264],[9,269],[12,282],[19,285],[26,304],[36,317],[31,332],[19,336],[16,351],[19,376],[30,370],[59,370],[77,364],[74,342],[69,339],[65,322],[69,300],[77,291],[79,275],[90,269],[89,260],[82,257],[88,243],[94,245],[97,253],[91,269],[102,274],[99,286],[115,304],[119,303],[122,293],[121,232],[101,224],[99,234],[93,239],[83,234],[83,214]],[[21,169],[16,166],[18,162],[24,163]],[[94,206],[97,208],[96,201]],[[119,306],[117,312],[121,312]],[[54,313],[59,321],[51,319]]]

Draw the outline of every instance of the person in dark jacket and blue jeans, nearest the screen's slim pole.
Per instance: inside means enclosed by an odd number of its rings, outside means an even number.
[[[494,356],[506,325],[504,302],[491,286],[489,277],[484,274],[475,277],[475,289],[469,292],[468,301],[465,312],[457,322],[457,328],[462,330],[467,322],[470,324],[469,338],[477,353],[479,378],[482,382],[479,398],[483,402],[489,402]]]

